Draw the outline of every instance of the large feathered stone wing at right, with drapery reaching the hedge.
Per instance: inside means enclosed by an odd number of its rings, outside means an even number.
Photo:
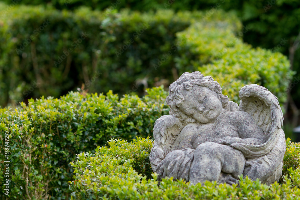
[[[249,113],[268,137],[262,145],[233,143],[233,148],[243,152],[246,165],[243,174],[251,179],[259,178],[262,183],[278,181],[282,174],[285,153],[283,114],[275,97],[266,88],[252,84],[241,88],[239,111]]]

